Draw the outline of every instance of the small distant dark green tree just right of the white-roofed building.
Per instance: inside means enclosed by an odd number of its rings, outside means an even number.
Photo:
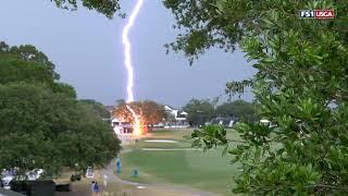
[[[208,99],[191,99],[183,110],[188,113],[187,120],[190,125],[202,125],[214,114],[214,107]]]

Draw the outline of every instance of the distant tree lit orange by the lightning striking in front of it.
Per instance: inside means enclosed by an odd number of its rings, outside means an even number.
[[[156,101],[145,100],[145,101],[135,101],[126,103],[123,100],[117,101],[117,106],[114,110],[114,115],[117,119],[125,120],[127,122],[133,122],[133,115],[127,109],[127,105],[135,110],[135,112],[141,117],[141,123],[146,125],[152,125],[163,121],[165,118],[165,110],[162,105],[157,103]]]

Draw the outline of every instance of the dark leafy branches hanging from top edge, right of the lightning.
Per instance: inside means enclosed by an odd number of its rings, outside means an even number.
[[[223,10],[224,0],[164,0],[165,8],[174,14],[177,23],[174,28],[183,29],[176,41],[166,44],[167,51],[184,51],[192,63],[194,59],[212,47],[220,47],[225,51],[234,51],[235,45],[245,35],[245,28],[252,28],[252,21],[257,20],[250,13],[250,7],[263,3],[258,1],[228,1],[236,4],[236,10]],[[260,7],[261,8],[261,7]],[[249,9],[249,10],[248,10]],[[223,12],[223,11],[225,12]],[[250,21],[246,20],[250,17]]]

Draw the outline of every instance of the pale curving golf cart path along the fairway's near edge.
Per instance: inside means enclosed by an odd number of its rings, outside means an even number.
[[[121,154],[126,154],[129,152],[130,149],[124,149],[121,151]],[[175,185],[156,185],[156,184],[145,184],[145,183],[136,183],[136,182],[132,182],[132,181],[124,181],[122,179],[120,179],[117,175],[114,174],[113,172],[113,168],[115,168],[115,160],[111,161],[109,163],[109,166],[107,167],[107,169],[102,170],[102,174],[107,174],[108,176],[108,182],[116,182],[116,183],[121,183],[124,185],[132,185],[132,186],[136,186],[139,187],[139,189],[144,188],[144,189],[158,189],[159,192],[171,192],[173,194],[177,194],[177,195],[187,195],[187,196],[215,196],[216,194],[214,193],[210,193],[210,192],[204,192],[204,191],[198,191],[198,189],[194,189],[190,187],[186,187],[186,186],[175,186]]]

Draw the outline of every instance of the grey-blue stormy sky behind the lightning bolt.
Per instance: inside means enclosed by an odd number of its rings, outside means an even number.
[[[127,12],[135,0],[124,0]],[[121,32],[125,21],[108,20],[95,11],[69,12],[50,0],[2,0],[0,40],[30,44],[57,65],[61,81],[75,87],[79,98],[105,105],[125,98]],[[176,107],[191,98],[224,94],[225,83],[253,74],[244,53],[213,49],[192,66],[183,54],[165,54],[163,45],[174,40],[173,15],[160,0],[145,0],[130,30],[137,100],[152,99]],[[244,97],[251,100],[251,95]]]

